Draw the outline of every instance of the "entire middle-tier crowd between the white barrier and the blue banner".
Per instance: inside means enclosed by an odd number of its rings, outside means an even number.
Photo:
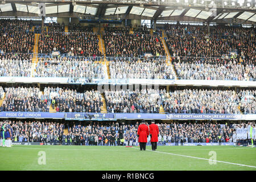
[[[1,111],[49,111],[100,113],[103,102],[99,91],[78,92],[69,88],[5,88]],[[256,90],[165,89],[105,90],[108,113],[256,114]]]

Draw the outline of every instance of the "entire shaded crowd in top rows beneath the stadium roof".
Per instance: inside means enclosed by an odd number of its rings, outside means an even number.
[[[32,53],[34,32],[31,32],[32,21],[1,19],[1,51],[8,53]],[[75,56],[101,56],[98,49],[97,33],[91,27],[81,24],[68,24],[65,32],[64,23],[49,23],[48,32],[40,35],[39,53],[60,51]],[[144,28],[144,27],[143,27]],[[147,29],[147,28],[146,28]],[[129,28],[127,28],[129,30]],[[238,57],[255,60],[255,32],[253,28],[214,26],[168,25],[165,30],[166,40],[171,56],[222,57],[229,55],[230,49],[237,51]],[[106,56],[138,57],[144,53],[164,56],[160,36],[148,32],[129,31],[120,28],[105,28]]]

